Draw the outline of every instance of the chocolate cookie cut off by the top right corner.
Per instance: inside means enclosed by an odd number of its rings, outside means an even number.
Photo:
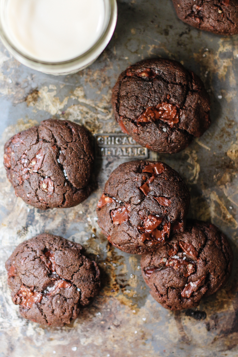
[[[238,34],[237,0],[173,0],[180,20],[219,35]]]

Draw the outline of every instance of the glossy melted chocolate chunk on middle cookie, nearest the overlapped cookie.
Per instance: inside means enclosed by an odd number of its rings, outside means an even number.
[[[170,223],[164,223],[163,230],[159,231],[158,227],[161,225],[163,218],[149,215],[144,220],[142,227],[137,227],[138,231],[143,233],[141,236],[142,242],[152,241],[152,244],[164,242],[169,236]]]

